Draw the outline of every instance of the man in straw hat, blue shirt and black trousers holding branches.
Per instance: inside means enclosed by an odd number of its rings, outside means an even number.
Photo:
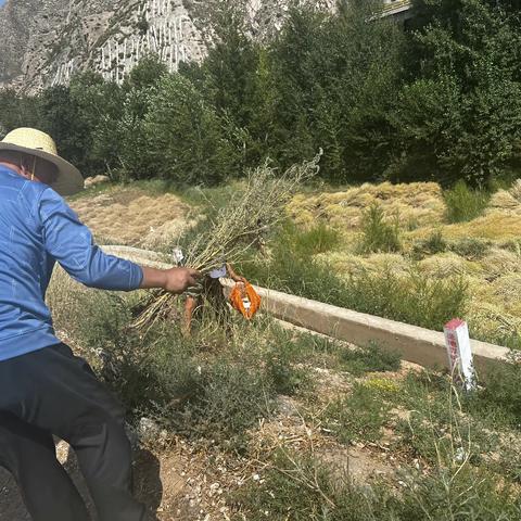
[[[82,186],[46,134],[21,128],[0,142],[0,465],[35,521],[87,521],[55,458],[54,434],[76,452],[100,521],[141,521],[147,513],[131,495],[122,406],[56,339],[43,298],[55,262],[104,290],[181,293],[198,272],[105,255],[61,196]]]

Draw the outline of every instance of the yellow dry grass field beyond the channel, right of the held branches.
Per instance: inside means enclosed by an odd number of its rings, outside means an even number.
[[[374,202],[387,218],[399,216],[403,255],[357,254],[360,218],[364,209]],[[466,318],[475,336],[500,342],[521,330],[521,254],[505,245],[521,238],[521,180],[509,191],[496,192],[483,216],[453,225],[446,223],[443,194],[436,183],[363,185],[336,193],[298,194],[290,203],[289,212],[303,227],[322,220],[342,232],[342,247],[320,254],[317,259],[344,276],[360,270],[383,272],[390,268],[407,274],[416,265],[408,255],[412,245],[431,238],[435,231],[445,241],[491,241],[494,246],[480,262],[445,252],[427,256],[418,263],[418,268],[428,278],[456,276],[469,283],[471,302]]]

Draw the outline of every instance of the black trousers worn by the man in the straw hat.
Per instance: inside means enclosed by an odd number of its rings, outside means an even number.
[[[100,521],[149,519],[131,494],[123,409],[64,344],[0,361],[0,465],[34,521],[88,521],[52,434],[74,448]]]

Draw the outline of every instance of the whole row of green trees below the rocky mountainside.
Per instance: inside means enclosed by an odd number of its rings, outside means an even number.
[[[201,64],[169,74],[148,56],[122,85],[0,91],[0,132],[36,126],[85,175],[123,179],[216,183],[322,149],[330,182],[484,186],[520,163],[520,3],[415,0],[406,30],[378,2],[293,7],[260,43],[242,2],[212,2]]]

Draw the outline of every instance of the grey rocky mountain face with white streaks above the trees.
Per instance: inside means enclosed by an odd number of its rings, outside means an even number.
[[[176,71],[201,61],[205,11],[217,0],[7,0],[0,8],[0,87],[35,92],[93,69],[122,81],[144,54]],[[255,36],[280,27],[290,0],[249,0]],[[317,5],[333,9],[335,0]]]

